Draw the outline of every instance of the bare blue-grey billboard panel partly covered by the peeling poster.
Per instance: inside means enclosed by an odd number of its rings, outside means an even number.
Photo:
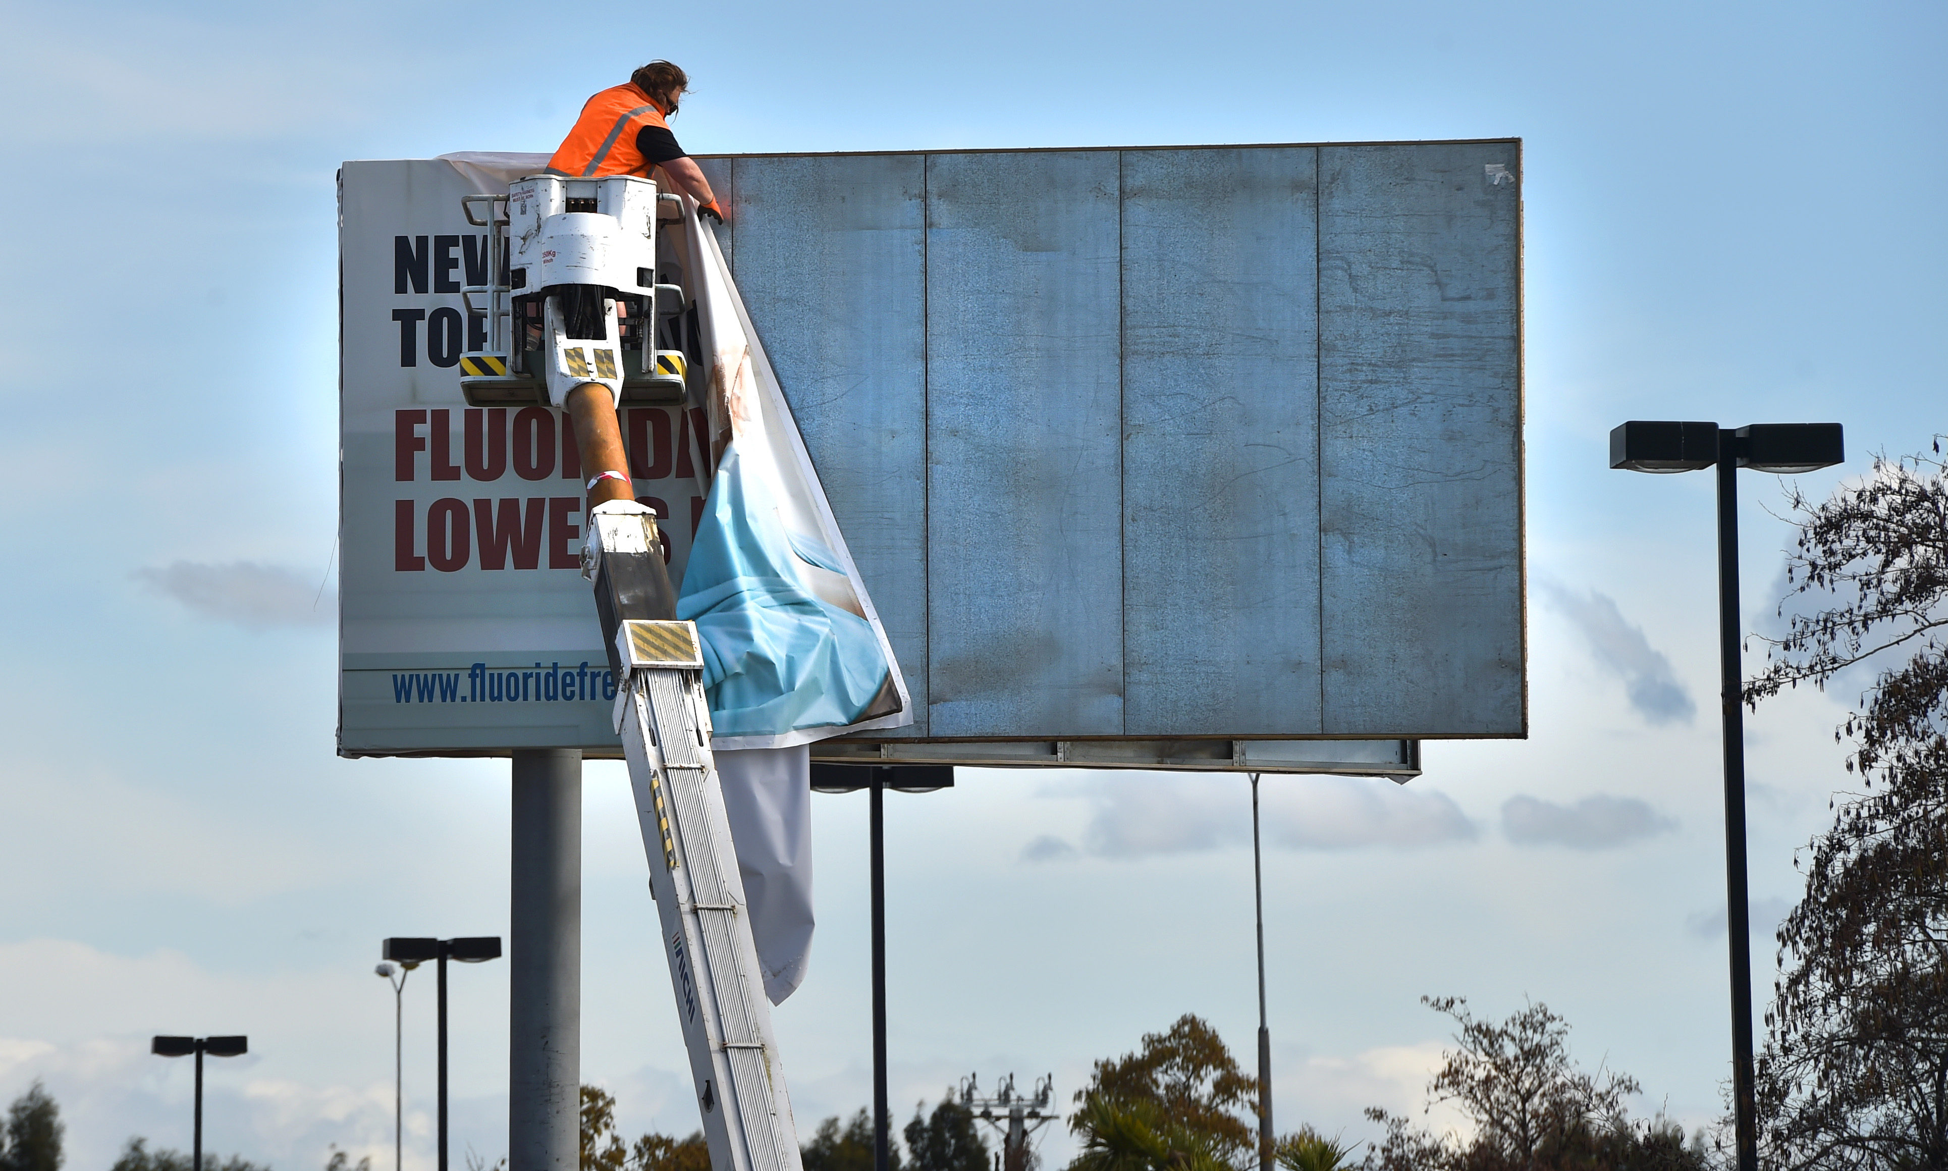
[[[925,212],[918,154],[746,158],[740,292],[927,735]],[[744,273],[762,279],[742,279]]]

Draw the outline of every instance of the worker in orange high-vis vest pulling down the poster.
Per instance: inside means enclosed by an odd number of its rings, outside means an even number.
[[[664,119],[690,92],[690,76],[668,60],[653,60],[629,74],[625,86],[608,88],[582,105],[575,129],[547,160],[549,175],[643,175],[662,168],[668,187],[697,201],[697,214],[723,224],[703,170],[684,154]]]

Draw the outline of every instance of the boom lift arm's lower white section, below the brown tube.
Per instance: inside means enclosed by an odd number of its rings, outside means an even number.
[[[676,1013],[713,1171],[801,1171],[785,1072],[711,760],[697,627],[674,612],[656,514],[633,501],[588,516],[582,577],[618,674],[629,758]]]

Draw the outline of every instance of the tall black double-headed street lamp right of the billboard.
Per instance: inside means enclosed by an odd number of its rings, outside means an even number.
[[[1759,1167],[1751,1072],[1751,910],[1745,894],[1745,709],[1738,620],[1738,470],[1796,475],[1845,460],[1839,423],[1625,423],[1609,433],[1609,466],[1625,472],[1718,468],[1718,707],[1724,738],[1724,887],[1732,937],[1732,1107],[1740,1171]]]

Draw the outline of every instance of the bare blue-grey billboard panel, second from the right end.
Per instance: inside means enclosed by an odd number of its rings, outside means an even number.
[[[1315,150],[1122,156],[1124,733],[1319,733]]]

